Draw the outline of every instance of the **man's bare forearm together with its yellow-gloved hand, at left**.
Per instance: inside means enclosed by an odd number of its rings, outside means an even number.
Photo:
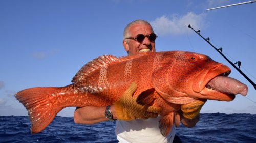
[[[113,119],[134,120],[155,118],[162,112],[162,108],[149,106],[144,107],[137,104],[133,94],[137,89],[137,84],[133,82],[130,87],[122,94],[121,98],[110,107]],[[74,112],[74,122],[77,124],[95,124],[102,121],[108,121],[105,118],[106,106],[86,106],[77,107]]]

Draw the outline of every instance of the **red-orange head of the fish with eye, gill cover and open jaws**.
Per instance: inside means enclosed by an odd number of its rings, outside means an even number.
[[[231,101],[234,95],[207,88],[207,83],[219,76],[228,76],[230,68],[206,55],[172,51],[163,54],[161,63],[152,74],[156,91],[169,102],[190,102],[188,99]]]

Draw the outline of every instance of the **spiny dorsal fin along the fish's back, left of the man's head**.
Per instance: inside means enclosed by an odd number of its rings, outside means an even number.
[[[77,83],[79,81],[82,81],[86,77],[88,77],[91,73],[93,73],[96,70],[101,69],[103,66],[116,63],[116,62],[123,62],[127,60],[131,60],[134,58],[137,58],[138,56],[124,56],[117,58],[113,55],[103,55],[99,56],[98,58],[93,59],[92,61],[88,62],[86,65],[84,65],[73,77],[72,81],[73,83]]]

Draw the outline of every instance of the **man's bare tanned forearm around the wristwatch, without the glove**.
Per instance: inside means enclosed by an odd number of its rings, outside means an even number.
[[[77,107],[74,112],[74,122],[76,124],[96,124],[102,121],[108,121],[105,117],[105,110],[106,106]],[[114,105],[110,107],[110,111],[113,114],[113,119],[117,119]]]

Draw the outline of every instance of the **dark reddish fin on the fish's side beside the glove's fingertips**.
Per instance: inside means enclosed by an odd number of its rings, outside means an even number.
[[[154,100],[154,88],[148,89],[140,93],[137,97],[136,102],[140,105],[150,104]]]

